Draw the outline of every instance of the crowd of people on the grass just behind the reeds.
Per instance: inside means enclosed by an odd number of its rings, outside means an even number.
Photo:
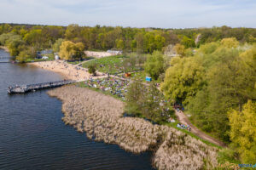
[[[92,79],[84,82],[84,85],[89,88],[101,89],[103,92],[109,92],[112,95],[116,95],[121,99],[125,99],[125,93],[128,81],[120,80],[118,78],[108,77],[102,79]]]

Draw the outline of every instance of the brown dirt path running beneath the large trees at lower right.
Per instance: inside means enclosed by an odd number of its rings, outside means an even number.
[[[213,139],[211,136],[207,135],[206,133],[201,132],[201,130],[199,130],[191,122],[189,122],[189,118],[183,113],[183,111],[175,110],[175,114],[179,122],[185,125],[189,125],[191,127],[191,133],[194,133],[196,136],[200,137],[201,139],[205,139],[211,142],[212,144],[217,144],[219,146],[226,147],[226,144],[224,144],[221,141],[218,141],[217,139]]]

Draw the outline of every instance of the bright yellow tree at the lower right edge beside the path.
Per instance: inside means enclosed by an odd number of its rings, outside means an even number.
[[[256,161],[256,104],[248,100],[242,111],[231,110],[230,139],[236,144],[244,163]]]

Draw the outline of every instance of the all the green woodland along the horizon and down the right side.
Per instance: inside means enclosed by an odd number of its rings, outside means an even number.
[[[256,162],[256,29],[229,26],[191,29],[111,26],[0,25],[0,45],[22,60],[37,51],[53,49],[62,59],[83,57],[84,50],[122,50],[129,59],[144,59],[143,68],[172,104],[183,105],[190,121],[221,139],[245,163]],[[176,56],[167,56],[169,48]],[[67,48],[72,48],[67,53]],[[131,67],[131,60],[129,62]],[[141,65],[138,62],[138,65]],[[134,84],[132,94],[142,94]],[[163,98],[154,87],[148,91]],[[133,93],[134,92],[134,93]],[[149,98],[152,96],[149,96]],[[143,99],[143,96],[141,97]],[[147,99],[147,101],[149,100]],[[132,111],[148,114],[135,96]],[[154,100],[154,99],[151,99]],[[150,100],[150,101],[151,101]],[[138,100],[144,104],[142,100]],[[139,111],[143,108],[143,111]],[[151,112],[150,112],[151,111]],[[160,115],[160,113],[158,113]]]

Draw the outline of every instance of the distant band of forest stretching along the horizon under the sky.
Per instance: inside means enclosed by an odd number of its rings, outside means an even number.
[[[199,47],[205,42],[216,42],[225,37],[236,37],[239,42],[256,42],[256,29],[230,28],[228,26],[198,29],[155,29],[111,26],[32,26],[0,25],[0,43],[34,53],[36,50],[52,48],[58,39],[82,42],[84,49],[107,50],[111,48],[127,52],[150,53],[163,50],[170,44],[180,43],[184,48]],[[14,40],[12,40],[14,39]],[[12,53],[12,52],[11,52]]]

